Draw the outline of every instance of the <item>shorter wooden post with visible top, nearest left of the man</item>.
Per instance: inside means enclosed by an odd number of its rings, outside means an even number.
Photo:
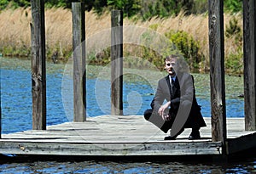
[[[111,12],[111,115],[123,115],[123,12]]]

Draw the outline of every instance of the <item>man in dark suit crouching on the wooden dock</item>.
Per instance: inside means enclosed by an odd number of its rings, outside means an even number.
[[[158,81],[158,87],[151,102],[151,108],[144,112],[147,121],[158,126],[163,132],[171,129],[165,140],[174,140],[184,128],[192,128],[189,140],[200,139],[201,126],[207,126],[201,115],[201,106],[195,98],[193,76],[182,65],[178,55],[165,59],[168,76]],[[166,103],[164,103],[166,102]]]

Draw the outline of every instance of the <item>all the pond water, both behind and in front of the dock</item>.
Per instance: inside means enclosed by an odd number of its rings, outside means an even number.
[[[32,128],[32,93],[30,60],[0,58],[2,132],[20,132]],[[110,82],[102,78],[96,67],[87,72],[87,115],[110,114]],[[71,79],[66,78],[67,66],[47,63],[47,125],[72,121],[72,90],[68,88]],[[156,73],[146,72],[154,79]],[[101,75],[101,76],[99,76]],[[105,74],[104,74],[105,75]],[[196,96],[202,106],[202,114],[210,116],[209,76],[194,74]],[[63,78],[65,77],[64,81]],[[98,78],[96,78],[98,77]],[[134,80],[134,77],[138,81]],[[149,108],[156,87],[154,82],[139,71],[124,76],[124,114],[143,115]],[[69,82],[68,82],[69,81]],[[66,88],[67,87],[67,88]],[[66,91],[65,91],[66,90]],[[71,93],[67,93],[67,92]],[[66,94],[64,97],[62,94]],[[98,94],[99,93],[99,94]],[[243,93],[242,78],[226,77],[226,105],[228,117],[244,117],[244,102],[237,96]],[[146,160],[147,161],[147,160]],[[250,157],[232,163],[188,162],[131,162],[96,160],[26,160],[18,163],[0,160],[2,173],[250,173],[256,171],[256,158]],[[154,161],[154,160],[153,160]],[[176,160],[174,160],[176,161]]]

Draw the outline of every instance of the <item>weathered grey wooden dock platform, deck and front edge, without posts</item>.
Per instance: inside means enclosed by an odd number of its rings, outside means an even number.
[[[226,150],[212,142],[211,118],[201,128],[200,140],[188,140],[190,129],[176,140],[145,121],[142,115],[89,117],[85,122],[47,126],[46,131],[30,130],[3,134],[0,154],[47,154],[79,156],[160,156],[234,154],[256,147],[256,132],[244,131],[244,118],[227,119]]]

